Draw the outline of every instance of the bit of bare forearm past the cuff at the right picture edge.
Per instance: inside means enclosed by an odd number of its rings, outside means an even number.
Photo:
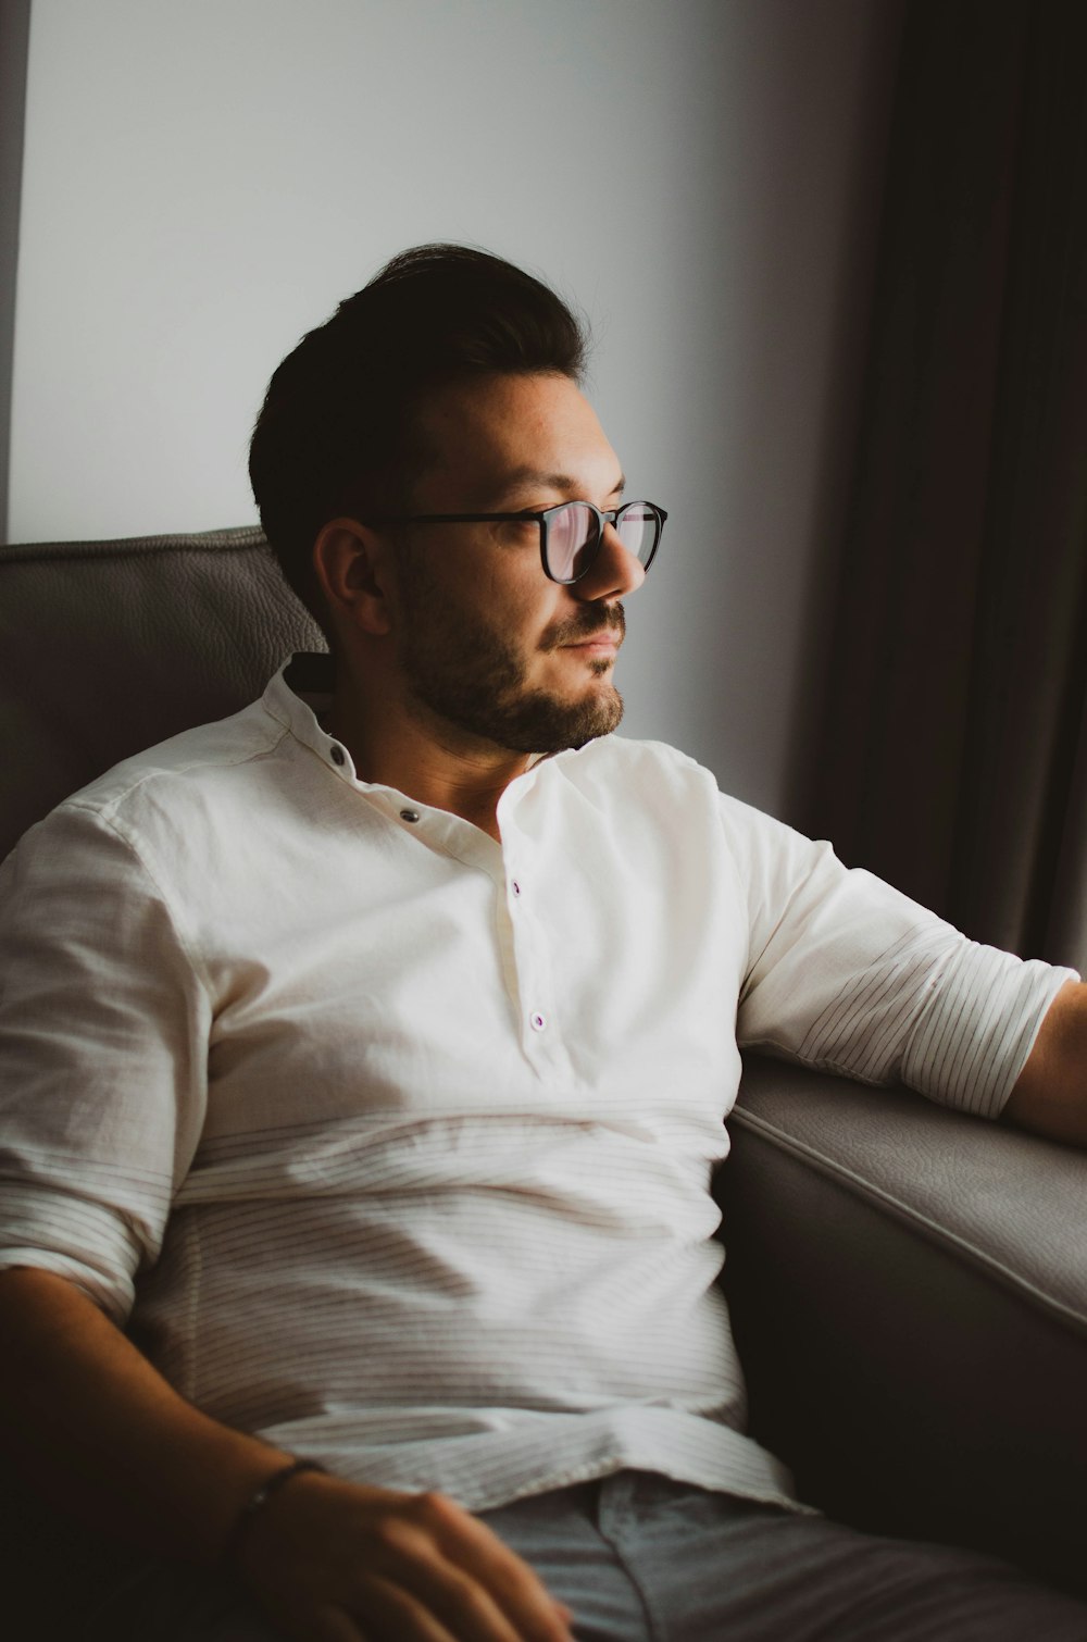
[[[1087,982],[1067,980],[1049,1005],[1003,1117],[1087,1146]]]

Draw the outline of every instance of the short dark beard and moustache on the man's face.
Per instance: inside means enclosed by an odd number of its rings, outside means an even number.
[[[425,576],[410,576],[406,591],[410,609],[401,665],[412,698],[429,714],[511,752],[565,752],[617,727],[622,696],[611,681],[578,701],[530,690],[527,662],[496,627],[455,611]],[[622,604],[586,604],[555,622],[539,649],[557,650],[604,627],[622,637]],[[612,663],[599,657],[586,665],[603,680]]]

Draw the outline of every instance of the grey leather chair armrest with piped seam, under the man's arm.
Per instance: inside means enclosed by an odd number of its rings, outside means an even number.
[[[729,1128],[752,1430],[801,1498],[1087,1591],[1087,1154],[757,1056]]]

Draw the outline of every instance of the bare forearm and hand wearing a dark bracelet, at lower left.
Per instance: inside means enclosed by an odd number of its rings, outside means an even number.
[[[156,1555],[212,1566],[291,1455],[179,1397],[74,1284],[0,1273],[0,1440],[53,1504]],[[240,1576],[300,1642],[570,1642],[565,1609],[440,1494],[304,1473],[258,1512]]]

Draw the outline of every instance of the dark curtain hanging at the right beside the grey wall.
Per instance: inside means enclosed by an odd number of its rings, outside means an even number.
[[[910,0],[808,831],[1087,969],[1087,5]]]

